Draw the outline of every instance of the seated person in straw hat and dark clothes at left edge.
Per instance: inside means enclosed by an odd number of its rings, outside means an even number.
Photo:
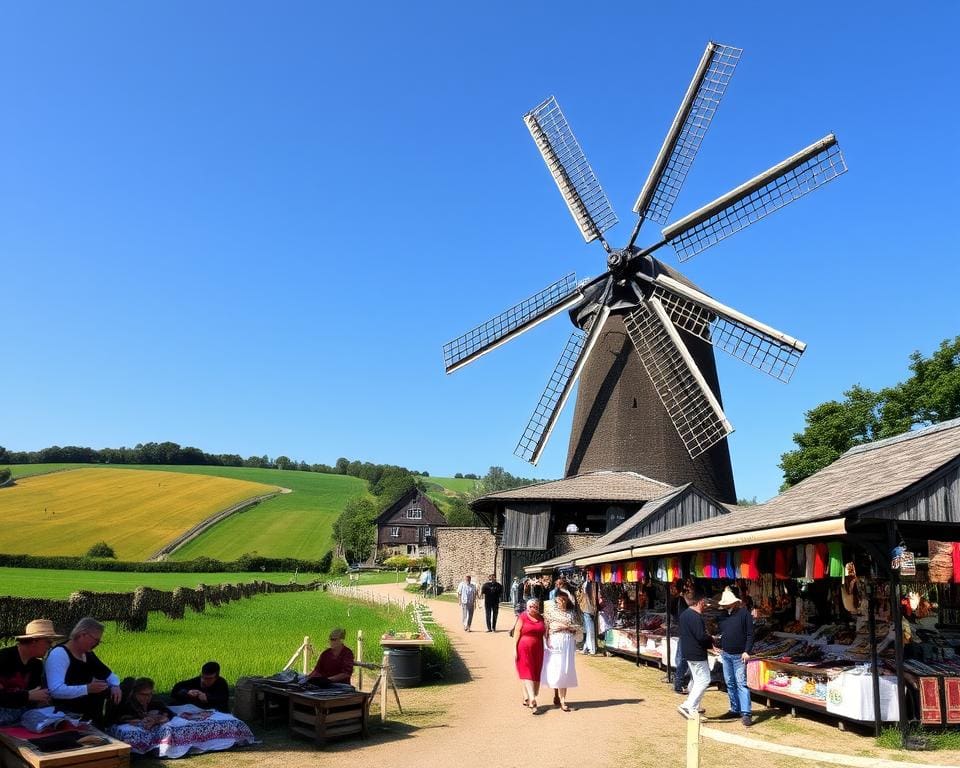
[[[0,725],[20,720],[31,707],[50,703],[50,694],[40,685],[43,657],[56,640],[62,640],[49,619],[27,624],[17,644],[0,650]]]

